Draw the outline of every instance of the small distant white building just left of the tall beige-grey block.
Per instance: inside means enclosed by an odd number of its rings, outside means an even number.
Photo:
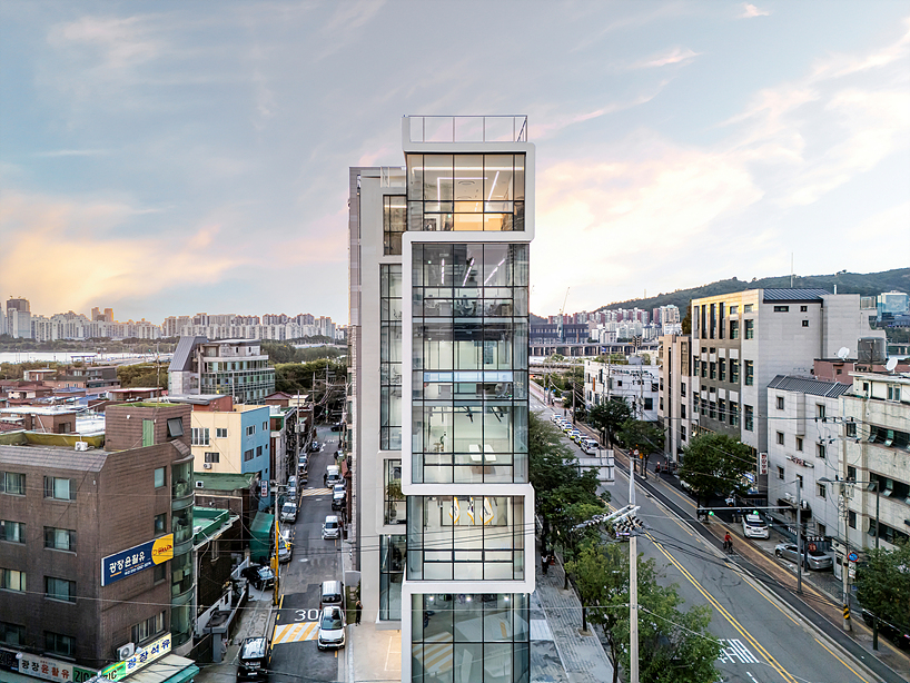
[[[622,398],[632,408],[635,419],[656,422],[660,417],[661,368],[656,364],[641,365],[641,359],[635,356],[631,356],[630,360],[630,365],[584,362],[585,406],[590,409],[613,398]]]

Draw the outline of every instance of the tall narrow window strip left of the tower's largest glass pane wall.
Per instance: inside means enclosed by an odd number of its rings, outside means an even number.
[[[402,447],[402,266],[379,266],[379,447]]]

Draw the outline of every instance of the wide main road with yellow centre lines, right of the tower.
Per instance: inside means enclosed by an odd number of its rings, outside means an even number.
[[[553,410],[533,402],[548,419]],[[562,408],[557,408],[562,414]],[[573,448],[581,451],[573,444]],[[616,468],[607,488],[611,506],[629,502],[629,479]],[[872,683],[866,670],[810,622],[778,601],[740,570],[711,540],[698,533],[651,495],[639,489],[639,518],[650,527],[639,538],[639,553],[664,567],[665,581],[679,585],[691,605],[712,607],[711,632],[725,650],[718,662],[730,683]]]

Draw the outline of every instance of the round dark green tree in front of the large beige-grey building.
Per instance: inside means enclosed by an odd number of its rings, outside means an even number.
[[[724,434],[701,434],[683,449],[680,478],[692,487],[701,505],[715,492],[745,493],[743,475],[753,465],[745,444]]]

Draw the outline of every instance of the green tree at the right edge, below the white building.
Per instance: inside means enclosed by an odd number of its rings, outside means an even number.
[[[900,633],[910,633],[910,543],[893,551],[870,548],[867,557],[857,575],[860,604]]]

